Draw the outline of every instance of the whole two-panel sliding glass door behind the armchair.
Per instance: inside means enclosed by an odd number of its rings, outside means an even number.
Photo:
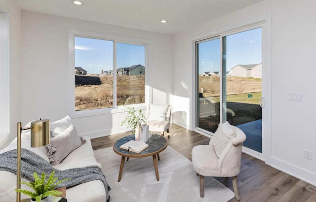
[[[228,121],[262,153],[262,27],[196,42],[197,130],[214,133]]]

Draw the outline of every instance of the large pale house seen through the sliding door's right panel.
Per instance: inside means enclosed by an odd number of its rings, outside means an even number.
[[[262,78],[262,63],[237,65],[231,69],[232,76]]]

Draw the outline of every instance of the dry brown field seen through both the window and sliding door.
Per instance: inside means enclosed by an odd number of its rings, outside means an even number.
[[[112,76],[76,76],[76,110],[113,106]],[[199,92],[203,97],[219,96],[219,77],[200,76]],[[145,76],[117,76],[117,105],[145,101]],[[261,92],[261,79],[227,77],[227,95]]]

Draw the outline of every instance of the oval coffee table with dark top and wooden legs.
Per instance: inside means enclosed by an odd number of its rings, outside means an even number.
[[[127,161],[128,161],[129,157],[130,158],[143,158],[143,157],[148,157],[148,156],[153,156],[154,167],[155,167],[155,171],[156,171],[156,178],[157,178],[157,181],[159,181],[157,157],[158,157],[158,160],[160,160],[159,153],[161,151],[163,151],[168,146],[168,141],[161,135],[153,134],[146,141],[146,143],[149,146],[137,154],[137,153],[119,148],[120,145],[122,145],[130,140],[135,140],[135,134],[127,135],[125,137],[118,139],[118,141],[116,141],[114,143],[114,146],[113,146],[114,152],[119,154],[120,156],[122,156],[121,161],[120,161],[119,173],[118,173],[118,182],[120,181],[120,178],[122,176],[123,167],[124,167],[124,163],[125,163],[125,157],[127,157]]]

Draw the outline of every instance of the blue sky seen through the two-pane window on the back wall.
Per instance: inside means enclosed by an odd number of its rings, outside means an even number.
[[[82,67],[88,73],[113,70],[114,41],[75,37],[75,67]],[[117,43],[117,68],[145,66],[145,46]]]

